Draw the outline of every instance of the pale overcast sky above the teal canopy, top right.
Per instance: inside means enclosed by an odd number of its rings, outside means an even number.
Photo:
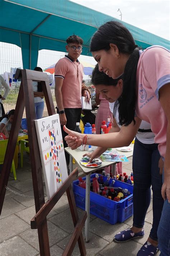
[[[71,0],[170,40],[169,0]]]

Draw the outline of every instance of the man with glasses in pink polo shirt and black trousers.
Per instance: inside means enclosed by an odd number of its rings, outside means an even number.
[[[81,88],[83,79],[83,65],[78,58],[82,52],[83,40],[77,35],[69,36],[66,40],[66,51],[68,55],[60,59],[55,66],[55,96],[57,112],[60,114],[60,124],[64,147],[67,133],[63,131],[63,125],[74,131],[76,122],[81,118],[81,96],[90,99],[86,88]],[[83,93],[82,93],[83,92]],[[65,152],[67,165],[69,165],[69,154]]]

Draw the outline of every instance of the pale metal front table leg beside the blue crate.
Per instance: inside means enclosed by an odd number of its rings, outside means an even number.
[[[89,216],[90,216],[90,174],[86,175],[86,203],[85,210],[87,212],[87,219],[85,221],[85,241],[89,242]]]

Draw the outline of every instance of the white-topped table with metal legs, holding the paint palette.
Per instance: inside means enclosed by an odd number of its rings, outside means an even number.
[[[133,155],[133,146],[134,144],[130,144],[130,147],[132,147],[132,151],[129,152],[122,152],[118,151],[121,155],[125,155],[127,158],[131,157]],[[85,241],[86,243],[89,242],[89,216],[90,216],[90,174],[91,172],[97,171],[101,168],[107,167],[109,165],[112,165],[112,174],[115,175],[115,164],[118,162],[102,162],[102,164],[99,167],[95,168],[88,168],[84,165],[80,164],[80,159],[82,158],[82,155],[84,155],[86,152],[90,153],[92,152],[90,149],[88,151],[81,151],[80,149],[71,150],[70,147],[65,148],[66,152],[70,155],[70,172],[73,170],[73,164],[72,159],[74,158],[77,164],[80,166],[84,174],[86,175],[86,200],[85,200],[85,211],[87,212],[87,219],[85,222]],[[116,150],[116,149],[115,149]]]

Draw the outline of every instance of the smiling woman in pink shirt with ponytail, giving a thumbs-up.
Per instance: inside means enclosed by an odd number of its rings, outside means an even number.
[[[122,23],[111,21],[101,26],[92,37],[90,50],[99,70],[117,79],[124,74],[123,93],[118,99],[120,132],[101,135],[78,134],[65,128],[71,149],[87,141],[94,146],[128,146],[135,137],[141,119],[151,124],[155,143],[164,160],[162,197],[164,207],[158,228],[161,256],[170,255],[170,69],[169,51],[152,46],[142,51]],[[109,95],[108,95],[109,97]],[[95,155],[91,155],[93,159]],[[153,246],[152,246],[153,247]],[[155,247],[156,248],[156,247]],[[155,255],[146,243],[138,256]]]

